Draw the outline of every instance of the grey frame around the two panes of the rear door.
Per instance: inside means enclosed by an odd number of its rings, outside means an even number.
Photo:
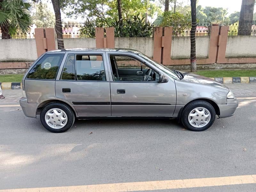
[[[64,70],[65,68],[65,64],[66,64],[66,60],[68,58],[68,55],[74,55],[74,59],[75,59],[75,80],[68,80],[68,79],[61,79],[61,75],[62,75],[62,71]],[[102,57],[102,61],[103,61],[103,67],[104,67],[104,71],[105,71],[105,78],[106,80],[103,81],[103,80],[77,80],[77,77],[76,77],[76,55],[99,55]],[[88,51],[88,52],[66,52],[65,56],[65,61],[63,63],[61,63],[60,67],[62,68],[60,73],[58,73],[58,76],[57,76],[57,79],[56,81],[71,81],[71,82],[109,82],[109,79],[108,79],[108,68],[106,68],[107,66],[107,62],[105,60],[105,52],[98,52],[98,51]],[[63,59],[64,59],[63,58]],[[63,61],[63,60],[62,60]]]

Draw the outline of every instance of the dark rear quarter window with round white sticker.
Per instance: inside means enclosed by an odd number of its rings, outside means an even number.
[[[28,79],[55,79],[64,54],[45,54],[29,71]]]

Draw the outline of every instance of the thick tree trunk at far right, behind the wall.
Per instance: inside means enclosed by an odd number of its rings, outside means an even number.
[[[255,0],[242,0],[237,35],[251,35]]]

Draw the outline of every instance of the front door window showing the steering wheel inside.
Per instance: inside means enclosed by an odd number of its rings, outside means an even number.
[[[109,55],[114,81],[158,82],[159,74],[131,56]]]

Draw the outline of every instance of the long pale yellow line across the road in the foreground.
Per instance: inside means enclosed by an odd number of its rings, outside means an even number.
[[[0,190],[0,192],[60,192],[60,191],[83,191],[83,192],[124,192],[124,191],[148,191],[162,189],[213,187],[223,185],[254,184],[256,175],[240,175],[231,177],[213,177],[201,179],[184,180],[164,180],[164,181],[145,181],[130,183],[111,183],[100,185],[79,185],[66,187],[46,187],[46,188],[21,188]]]

